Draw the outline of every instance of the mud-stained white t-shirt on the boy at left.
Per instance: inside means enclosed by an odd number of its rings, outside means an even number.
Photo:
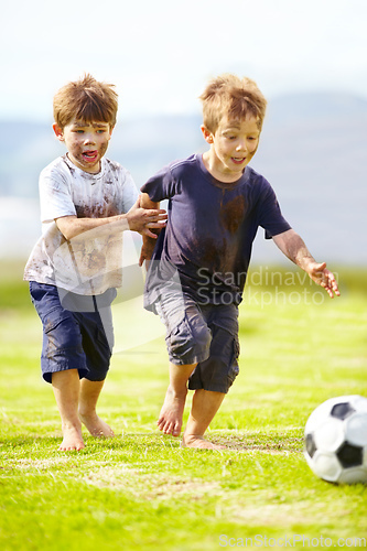
[[[121,223],[106,224],[66,240],[55,219],[106,218],[127,213],[138,198],[130,173],[119,163],[101,159],[98,174],[60,156],[40,175],[42,236],[24,270],[24,280],[57,285],[78,294],[101,294],[121,287]]]

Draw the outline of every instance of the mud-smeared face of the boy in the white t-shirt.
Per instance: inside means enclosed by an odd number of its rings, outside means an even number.
[[[108,122],[73,120],[63,129],[55,123],[53,129],[57,139],[65,142],[68,158],[75,166],[89,174],[100,171],[100,160],[112,133]]]

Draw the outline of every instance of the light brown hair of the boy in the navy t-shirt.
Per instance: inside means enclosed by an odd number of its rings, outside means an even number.
[[[267,100],[250,78],[224,74],[213,78],[199,96],[204,126],[215,132],[224,116],[228,119],[255,117],[261,130]]]

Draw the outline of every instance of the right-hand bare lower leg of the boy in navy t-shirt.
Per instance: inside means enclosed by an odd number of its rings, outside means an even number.
[[[226,446],[212,444],[212,442],[204,439],[204,433],[220,408],[225,396],[223,392],[204,389],[195,390],[190,418],[182,439],[183,447],[226,449]]]

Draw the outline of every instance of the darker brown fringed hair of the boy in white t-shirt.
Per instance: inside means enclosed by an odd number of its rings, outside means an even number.
[[[116,125],[118,95],[112,84],[99,83],[86,74],[63,86],[54,96],[54,119],[60,128],[72,120]]]

